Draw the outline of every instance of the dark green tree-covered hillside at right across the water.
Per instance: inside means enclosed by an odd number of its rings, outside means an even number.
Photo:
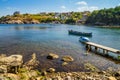
[[[120,6],[93,11],[86,20],[86,24],[120,26]]]

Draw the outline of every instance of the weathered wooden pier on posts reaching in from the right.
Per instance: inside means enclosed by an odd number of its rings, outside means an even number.
[[[115,54],[120,54],[120,50],[114,49],[114,48],[111,48],[111,47],[106,47],[106,46],[96,44],[96,43],[93,43],[93,42],[85,42],[85,44],[86,44],[86,49],[87,50],[91,51],[92,49],[94,49],[96,53],[98,52],[99,49],[101,49],[101,50],[103,50],[103,54],[106,54],[106,55],[108,55],[108,52],[112,52],[112,53],[115,53]]]

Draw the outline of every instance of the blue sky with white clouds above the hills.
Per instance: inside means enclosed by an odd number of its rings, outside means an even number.
[[[0,0],[0,16],[20,13],[93,11],[120,6],[120,0]]]

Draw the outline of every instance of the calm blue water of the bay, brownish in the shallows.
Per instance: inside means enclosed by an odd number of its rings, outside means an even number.
[[[92,32],[91,41],[120,50],[120,29],[95,28],[64,24],[33,24],[33,25],[0,25],[0,53],[22,54],[24,60],[30,59],[32,53],[37,54],[39,68],[54,67],[58,71],[84,71],[83,63],[90,62],[101,70],[108,67],[120,69],[120,63],[105,57],[90,53],[85,56],[84,45],[79,36],[68,35],[68,30]],[[60,56],[56,60],[47,60],[49,53]],[[74,62],[62,66],[60,60],[64,55],[71,55]],[[115,55],[116,56],[116,55]]]

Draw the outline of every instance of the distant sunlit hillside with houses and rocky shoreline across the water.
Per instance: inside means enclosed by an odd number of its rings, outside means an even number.
[[[38,23],[65,23],[81,24],[84,23],[90,12],[66,12],[66,13],[46,13],[39,14],[20,14],[19,11],[13,15],[7,15],[0,18],[1,24],[38,24]]]

